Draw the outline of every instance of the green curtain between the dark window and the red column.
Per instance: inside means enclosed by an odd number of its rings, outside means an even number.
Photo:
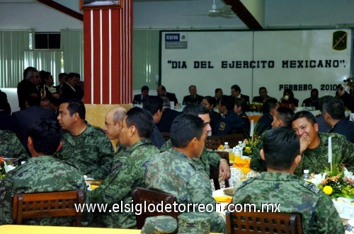
[[[64,72],[76,72],[84,79],[84,30],[62,30],[60,47],[64,53]]]

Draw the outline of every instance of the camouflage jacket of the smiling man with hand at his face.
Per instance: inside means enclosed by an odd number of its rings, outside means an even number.
[[[302,175],[304,169],[308,169],[310,174],[324,172],[330,168],[329,157],[329,136],[332,136],[332,159],[346,164],[349,171],[354,170],[354,144],[346,139],[346,136],[335,133],[318,133],[321,143],[317,148],[307,148],[302,153],[302,160],[295,170],[295,175]]]

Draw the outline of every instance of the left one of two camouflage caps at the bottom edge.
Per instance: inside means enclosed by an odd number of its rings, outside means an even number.
[[[177,221],[171,216],[154,216],[145,219],[142,234],[176,233]]]

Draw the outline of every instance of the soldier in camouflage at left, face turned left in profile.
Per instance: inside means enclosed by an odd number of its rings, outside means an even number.
[[[104,180],[112,168],[113,146],[101,128],[84,120],[85,114],[81,100],[64,100],[59,106],[57,119],[66,131],[57,158],[71,163],[88,177]]]

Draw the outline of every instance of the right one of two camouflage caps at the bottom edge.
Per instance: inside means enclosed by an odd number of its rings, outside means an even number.
[[[182,213],[178,216],[178,233],[210,233],[210,216],[206,213]]]

